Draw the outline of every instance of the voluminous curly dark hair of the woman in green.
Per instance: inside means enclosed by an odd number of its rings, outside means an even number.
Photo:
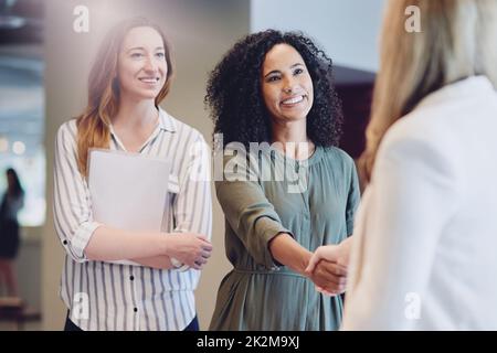
[[[335,92],[332,62],[300,32],[267,30],[240,40],[212,71],[204,103],[211,110],[214,133],[230,142],[271,143],[271,118],[261,92],[265,55],[276,44],[292,45],[307,66],[314,85],[314,104],[307,115],[307,135],[316,146],[338,146],[341,104]]]

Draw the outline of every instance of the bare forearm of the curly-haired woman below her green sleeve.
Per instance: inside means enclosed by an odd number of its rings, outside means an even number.
[[[279,264],[304,275],[313,253],[304,248],[292,236],[281,233],[269,242],[269,252]]]

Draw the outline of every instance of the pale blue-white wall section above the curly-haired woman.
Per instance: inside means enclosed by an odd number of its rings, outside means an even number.
[[[385,0],[252,0],[251,31],[300,30],[336,64],[376,72]]]

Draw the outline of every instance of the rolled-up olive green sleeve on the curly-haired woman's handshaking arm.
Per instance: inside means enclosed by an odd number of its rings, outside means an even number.
[[[234,157],[237,158],[237,157]],[[230,161],[225,158],[224,164]],[[243,165],[243,163],[240,163]],[[251,163],[251,165],[253,165]],[[225,171],[226,172],[226,171]],[[268,269],[282,266],[269,252],[269,242],[281,233],[293,234],[283,226],[273,204],[267,200],[254,170],[247,168],[247,180],[233,180],[230,175],[215,183],[218,200],[224,216],[244,247],[260,265]],[[255,178],[254,178],[255,176]]]

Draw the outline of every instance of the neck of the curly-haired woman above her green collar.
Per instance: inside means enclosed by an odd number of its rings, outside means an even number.
[[[273,121],[272,142],[275,148],[283,151],[287,157],[303,160],[309,158],[314,152],[314,143],[307,136],[307,124],[300,121]]]

